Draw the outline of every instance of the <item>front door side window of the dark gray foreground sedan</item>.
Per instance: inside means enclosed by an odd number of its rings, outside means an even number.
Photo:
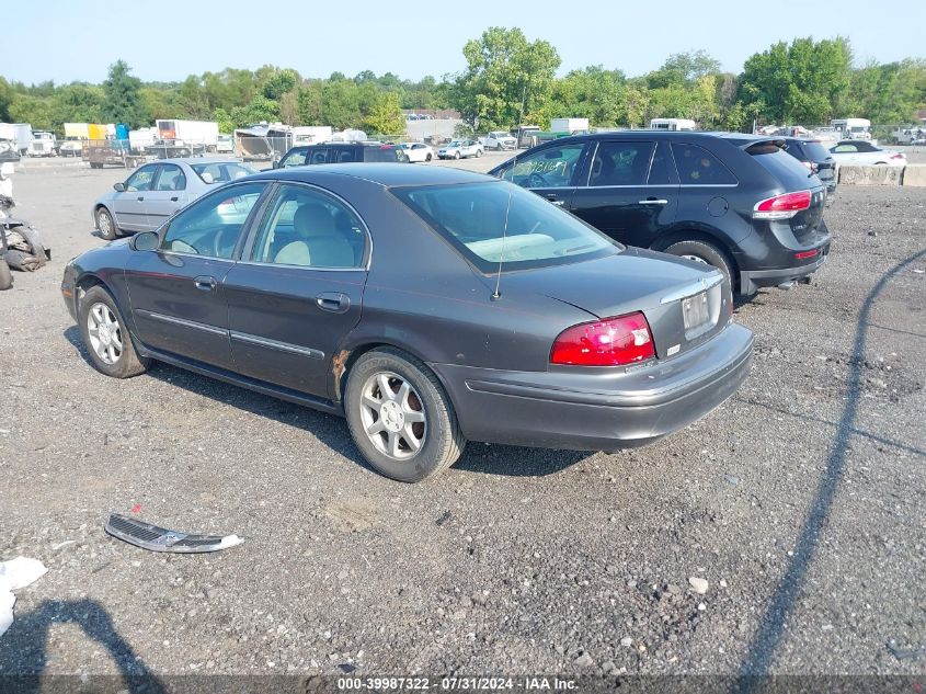
[[[230,185],[199,198],[171,220],[161,250],[231,258],[264,185],[264,182]]]

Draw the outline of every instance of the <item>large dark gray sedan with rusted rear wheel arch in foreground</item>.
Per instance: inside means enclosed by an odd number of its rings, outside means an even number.
[[[409,482],[467,441],[655,441],[736,390],[753,342],[717,270],[438,167],[229,183],[73,259],[61,293],[100,372],[158,360],[342,414],[370,465]]]

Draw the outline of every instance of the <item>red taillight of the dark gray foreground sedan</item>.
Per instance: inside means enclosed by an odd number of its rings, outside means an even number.
[[[550,363],[620,366],[655,356],[653,334],[643,314],[629,314],[563,330],[553,342]]]

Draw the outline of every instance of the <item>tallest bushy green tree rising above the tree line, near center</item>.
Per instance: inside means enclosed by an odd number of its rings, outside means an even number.
[[[453,80],[450,104],[479,129],[515,125],[546,111],[560,57],[541,39],[527,41],[519,29],[493,26],[464,46],[467,69]]]

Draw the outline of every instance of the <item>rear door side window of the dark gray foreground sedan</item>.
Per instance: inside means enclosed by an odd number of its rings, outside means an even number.
[[[315,189],[282,185],[251,259],[299,268],[361,268],[365,253],[364,226],[346,205]]]

